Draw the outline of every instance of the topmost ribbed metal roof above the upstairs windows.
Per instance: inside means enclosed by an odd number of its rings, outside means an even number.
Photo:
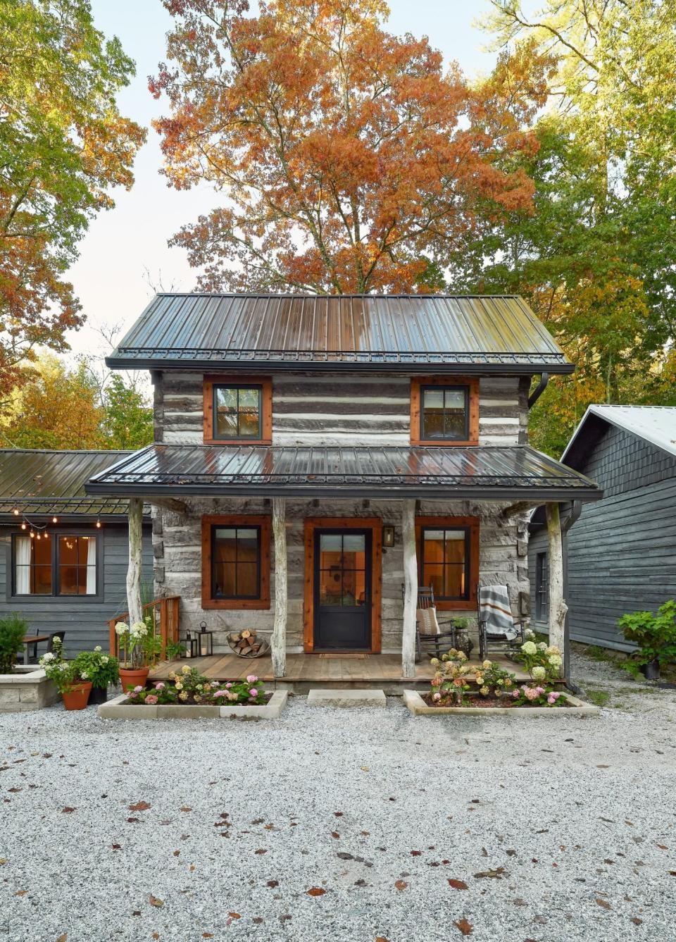
[[[512,295],[158,294],[106,363],[130,369],[573,369],[525,301]]]

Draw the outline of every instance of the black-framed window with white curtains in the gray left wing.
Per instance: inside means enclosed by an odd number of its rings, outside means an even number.
[[[95,595],[95,536],[15,535],[12,543],[15,595]]]

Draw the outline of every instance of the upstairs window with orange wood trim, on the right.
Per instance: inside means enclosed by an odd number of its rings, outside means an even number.
[[[411,379],[411,445],[478,445],[478,441],[478,379],[455,376]]]

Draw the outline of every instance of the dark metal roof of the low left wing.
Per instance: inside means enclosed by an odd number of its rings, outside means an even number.
[[[85,493],[85,482],[131,451],[52,451],[0,448],[0,516],[13,510],[40,515],[117,516],[127,513],[120,497]]]

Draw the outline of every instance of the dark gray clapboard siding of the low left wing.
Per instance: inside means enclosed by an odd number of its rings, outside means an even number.
[[[66,534],[72,529],[80,530],[91,524],[67,525],[51,528],[53,535]],[[126,576],[129,558],[129,542],[126,524],[106,523],[97,536],[103,538],[104,592],[101,599],[90,601],[87,598],[68,598],[65,596],[45,596],[42,598],[14,599],[11,597],[10,543],[11,532],[16,528],[0,528],[0,584],[6,586],[0,595],[0,615],[18,611],[30,623],[30,630],[36,634],[49,634],[50,631],[66,631],[66,654],[72,657],[79,651],[91,650],[96,644],[108,649],[108,621],[121,614],[127,608]],[[150,523],[143,527],[143,578],[152,586],[153,546]],[[42,646],[44,650],[44,646]]]

